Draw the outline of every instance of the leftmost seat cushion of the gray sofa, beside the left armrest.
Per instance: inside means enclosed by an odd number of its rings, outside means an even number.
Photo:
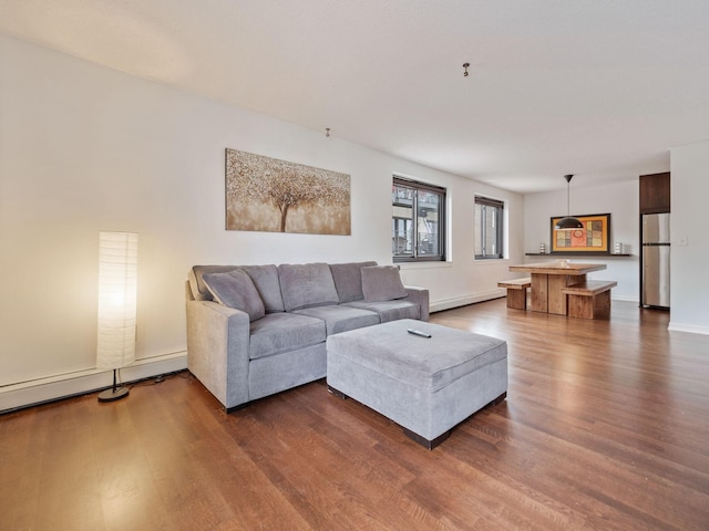
[[[250,360],[317,345],[326,340],[325,321],[295,313],[268,313],[250,324]]]

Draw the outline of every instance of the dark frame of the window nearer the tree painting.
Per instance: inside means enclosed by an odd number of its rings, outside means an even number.
[[[428,183],[421,183],[419,180],[410,179],[407,177],[401,177],[394,175],[392,177],[392,208],[397,206],[393,197],[393,188],[399,186],[403,188],[408,188],[413,190],[413,202],[411,206],[408,204],[402,204],[402,206],[410,207],[412,210],[412,219],[411,221],[411,240],[413,242],[413,249],[411,256],[397,256],[394,254],[393,249],[393,238],[395,238],[397,233],[394,231],[397,221],[400,220],[409,220],[409,218],[397,218],[391,217],[391,237],[392,237],[392,260],[394,263],[397,262],[444,262],[445,261],[445,238],[446,238],[446,216],[445,216],[445,205],[446,205],[446,189],[442,186],[430,185]],[[436,223],[436,236],[438,236],[438,247],[439,253],[436,254],[419,254],[419,223],[418,223],[418,209],[419,209],[419,192],[424,191],[427,194],[436,194],[440,196],[439,198],[439,210],[438,216],[439,220]],[[405,223],[405,221],[404,221]]]

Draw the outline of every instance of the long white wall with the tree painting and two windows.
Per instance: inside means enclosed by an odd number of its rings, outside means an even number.
[[[402,268],[434,310],[499,295],[508,274],[472,260],[476,192],[507,201],[522,259],[518,195],[343,142],[336,124],[326,138],[7,37],[0,50],[0,410],[110,383],[94,368],[100,230],[140,233],[137,365],[186,366],[192,264],[390,262],[393,173],[450,190],[452,261]],[[226,147],[350,174],[352,235],[226,231]]]

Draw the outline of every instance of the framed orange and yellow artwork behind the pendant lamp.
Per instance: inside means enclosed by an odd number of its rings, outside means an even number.
[[[608,235],[610,233],[610,215],[594,214],[587,216],[574,216],[584,225],[583,229],[554,230],[556,222],[564,216],[552,218],[551,238],[552,254],[573,252],[598,252],[608,254]]]

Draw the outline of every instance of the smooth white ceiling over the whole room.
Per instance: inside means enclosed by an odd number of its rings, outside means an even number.
[[[0,31],[523,194],[709,139],[707,0],[0,0]]]

